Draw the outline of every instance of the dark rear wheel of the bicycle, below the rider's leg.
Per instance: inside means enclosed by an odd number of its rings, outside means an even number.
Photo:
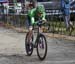
[[[30,37],[30,40],[28,38],[29,32],[26,34],[25,38],[25,49],[28,56],[31,56],[33,53],[33,35]]]

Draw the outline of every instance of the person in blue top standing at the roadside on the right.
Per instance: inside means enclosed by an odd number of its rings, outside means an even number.
[[[66,30],[70,30],[70,27],[73,29],[72,23],[70,22],[70,1],[61,0],[61,11],[63,12],[66,24]]]

